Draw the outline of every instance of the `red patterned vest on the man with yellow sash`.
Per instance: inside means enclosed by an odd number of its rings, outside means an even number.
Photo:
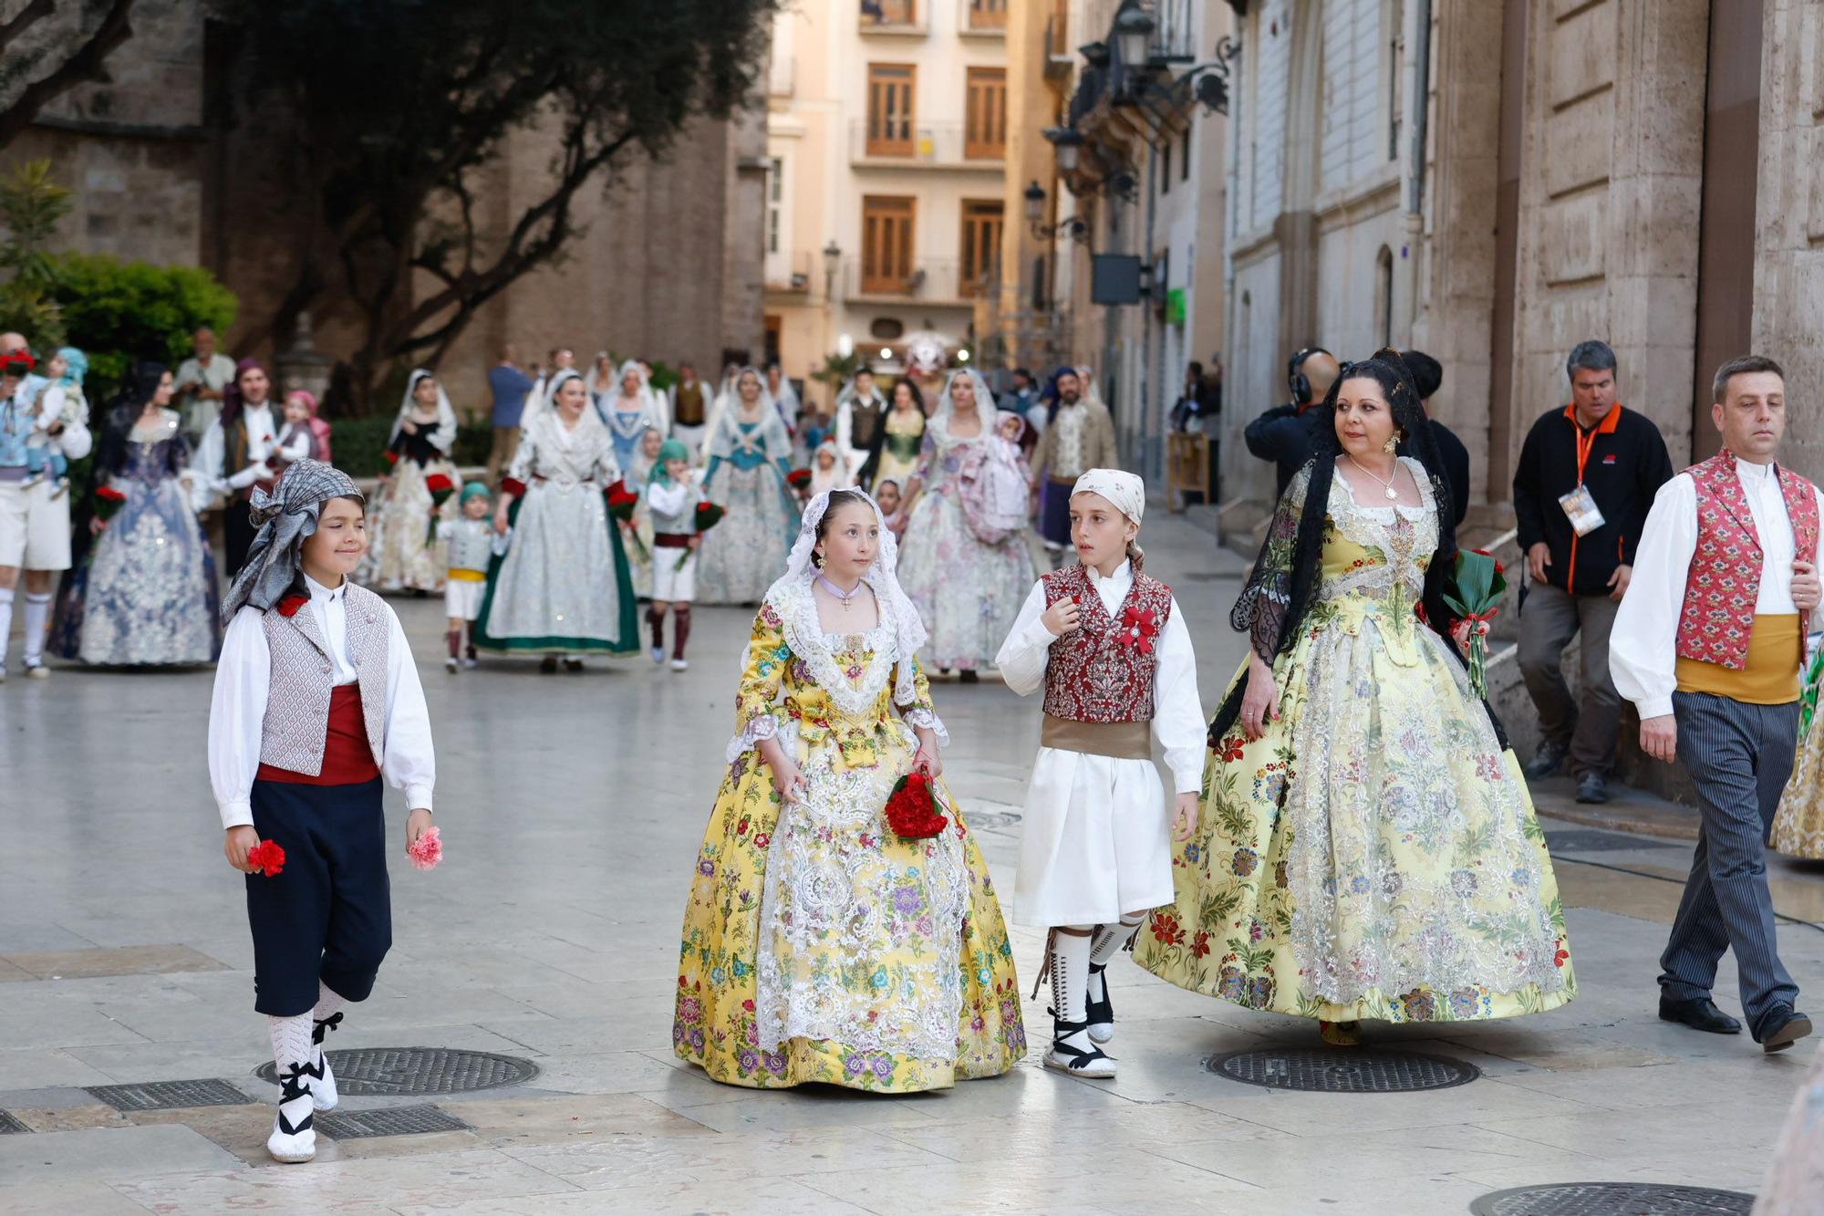
[[[1698,548],[1691,555],[1685,604],[1678,613],[1678,657],[1716,663],[1731,670],[1747,666],[1747,639],[1755,628],[1760,595],[1760,533],[1747,509],[1735,456],[1716,453],[1685,469],[1698,486]],[[1798,561],[1817,561],[1819,502],[1811,482],[1773,466],[1793,522]],[[1798,613],[1798,635],[1811,630],[1811,613]]]

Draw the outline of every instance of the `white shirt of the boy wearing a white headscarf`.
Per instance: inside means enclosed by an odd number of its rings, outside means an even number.
[[[1133,588],[1133,564],[1122,562],[1104,577],[1089,570],[1089,581],[1102,597],[1111,617],[1120,613],[1122,601]],[[1045,584],[1032,584],[1012,632],[994,657],[1007,687],[1020,696],[1031,696],[1045,687],[1045,666],[1051,661],[1051,643],[1058,641],[1045,628]],[[1195,794],[1204,787],[1204,743],[1207,725],[1204,705],[1197,696],[1197,654],[1191,632],[1184,624],[1178,601],[1171,601],[1166,628],[1153,639],[1158,670],[1153,677],[1153,738],[1166,750],[1166,767],[1180,794]]]

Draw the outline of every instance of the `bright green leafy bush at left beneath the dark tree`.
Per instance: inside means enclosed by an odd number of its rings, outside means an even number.
[[[155,267],[111,254],[62,254],[51,267],[64,340],[89,356],[82,391],[91,416],[98,416],[135,360],[177,371],[190,358],[192,334],[202,325],[226,334],[241,307],[201,267]]]

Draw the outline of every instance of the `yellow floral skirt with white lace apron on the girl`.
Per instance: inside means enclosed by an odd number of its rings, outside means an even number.
[[[912,1094],[1025,1055],[989,867],[954,814],[932,840],[886,829],[912,747],[897,723],[877,738],[861,767],[841,765],[834,743],[793,739],[810,787],[790,809],[757,752],[722,781],[684,909],[671,1024],[679,1059],[715,1081]]]

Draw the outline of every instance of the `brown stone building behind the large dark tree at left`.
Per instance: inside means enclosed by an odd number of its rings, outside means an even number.
[[[206,0],[139,0],[133,37],[108,60],[111,80],[57,99],[5,153],[49,157],[75,190],[66,248],[202,265],[239,298],[224,347],[272,356],[288,334],[272,318],[299,257],[299,223],[279,150],[285,115],[233,115],[223,99],[228,31]],[[509,133],[482,173],[478,214],[503,234],[538,190],[551,139]],[[764,345],[761,225],[764,104],[686,130],[664,161],[624,161],[578,197],[578,237],[560,265],[527,274],[483,305],[443,360],[458,409],[485,409],[485,372],[502,343],[525,360],[553,345],[598,349],[713,378],[724,358]],[[330,356],[358,347],[359,314],[334,296],[312,307]]]

